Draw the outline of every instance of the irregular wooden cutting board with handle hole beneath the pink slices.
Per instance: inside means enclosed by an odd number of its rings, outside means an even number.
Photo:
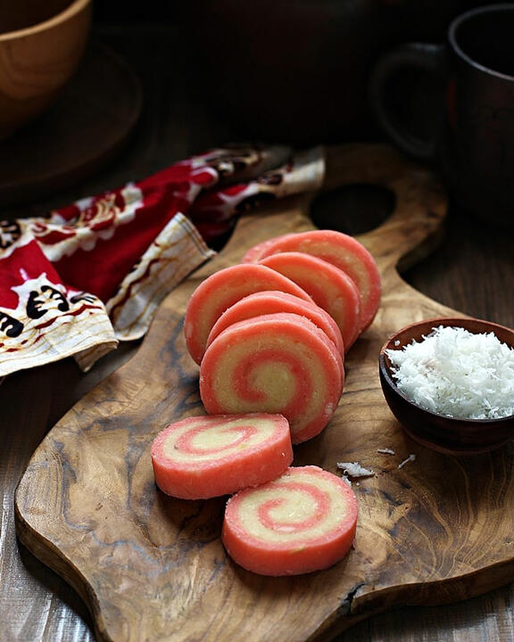
[[[201,414],[198,368],[182,319],[195,286],[270,236],[311,228],[311,197],[242,218],[220,256],[162,303],[137,356],[82,399],[43,440],[16,494],[21,541],[79,591],[100,640],[327,640],[393,605],[442,604],[514,580],[514,475],[509,445],[450,457],[407,438],[380,391],[378,351],[402,325],[452,309],[414,291],[396,266],[430,251],[444,222],[440,185],[381,146],[330,152],[326,188],[392,189],[393,215],[359,238],[377,259],[377,318],[346,359],[333,421],[295,448],[294,465],[357,461],[376,476],[353,488],[355,547],[324,572],[266,578],[233,564],[220,542],[225,498],[166,497],[150,447],[170,421]],[[393,449],[394,455],[377,449]],[[415,461],[399,467],[410,454]]]

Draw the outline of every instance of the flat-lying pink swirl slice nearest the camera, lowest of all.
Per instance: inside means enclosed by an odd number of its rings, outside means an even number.
[[[221,539],[248,571],[297,575],[343,559],[357,516],[357,499],[340,477],[317,466],[292,467],[228,499]]]

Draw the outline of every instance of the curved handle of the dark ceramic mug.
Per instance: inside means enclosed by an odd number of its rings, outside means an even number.
[[[369,101],[378,125],[402,152],[423,161],[435,161],[438,139],[443,124],[443,109],[434,114],[433,135],[427,138],[415,136],[402,130],[402,122],[394,119],[386,104],[386,86],[401,70],[425,71],[441,85],[443,102],[443,83],[445,53],[444,45],[428,43],[407,43],[399,45],[378,59],[369,78]]]

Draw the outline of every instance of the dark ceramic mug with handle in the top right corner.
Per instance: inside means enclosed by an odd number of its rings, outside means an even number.
[[[412,90],[412,83],[400,85],[406,70],[429,81],[419,92],[429,123],[424,136],[399,108],[398,90]],[[463,210],[514,226],[514,4],[462,13],[445,45],[410,43],[386,53],[371,75],[370,100],[402,151],[440,163]],[[434,100],[427,118],[423,103]]]

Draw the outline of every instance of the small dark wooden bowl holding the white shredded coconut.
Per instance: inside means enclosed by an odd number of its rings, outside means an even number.
[[[463,327],[470,333],[492,332],[501,342],[514,347],[513,330],[480,319],[432,318],[407,325],[389,337],[380,350],[380,383],[386,401],[403,430],[423,446],[452,455],[474,455],[500,448],[514,437],[514,416],[457,419],[438,415],[407,399],[396,386],[386,350],[401,350],[412,340],[420,342],[439,325]]]

